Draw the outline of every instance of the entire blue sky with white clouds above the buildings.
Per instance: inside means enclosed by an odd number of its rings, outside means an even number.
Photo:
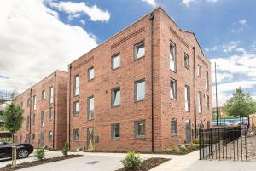
[[[240,87],[256,99],[255,0],[3,0],[0,92],[30,88],[161,6],[218,64],[218,105]],[[215,99],[212,96],[212,105]]]

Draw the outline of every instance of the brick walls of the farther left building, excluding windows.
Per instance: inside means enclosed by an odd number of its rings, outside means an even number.
[[[56,82],[55,82],[56,74]],[[41,82],[29,88],[24,93],[20,94],[16,100],[16,104],[23,102],[24,122],[20,130],[15,134],[17,142],[27,142],[26,135],[30,134],[29,129],[26,128],[27,117],[31,110],[31,144],[34,147],[39,146],[40,135],[44,133],[44,145],[48,148],[53,148],[53,140],[49,140],[49,131],[53,130],[54,120],[49,120],[49,108],[54,107],[54,104],[49,104],[49,87],[55,85],[55,146],[54,148],[62,148],[66,141],[67,134],[67,72],[55,71],[49,77],[44,78]],[[32,89],[32,94],[30,93]],[[46,92],[46,99],[42,100],[42,91]],[[37,108],[33,110],[33,103],[31,100],[31,109],[27,106],[27,99],[30,96],[37,96]],[[41,128],[41,111],[44,111],[44,128]],[[35,123],[32,123],[32,116],[35,114]],[[35,140],[32,140],[32,134],[35,134]],[[62,134],[60,136],[60,134]]]

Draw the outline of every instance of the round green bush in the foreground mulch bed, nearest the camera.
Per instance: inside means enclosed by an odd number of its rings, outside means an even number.
[[[128,151],[125,159],[121,162],[123,163],[125,169],[133,169],[142,163],[142,159],[134,151]]]

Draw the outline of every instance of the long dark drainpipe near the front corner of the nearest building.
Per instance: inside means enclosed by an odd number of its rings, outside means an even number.
[[[151,141],[152,141],[152,147],[151,151],[154,152],[154,61],[153,61],[153,56],[154,56],[154,51],[153,51],[153,35],[154,35],[154,13],[150,14],[149,17],[150,20],[150,48],[151,48]]]

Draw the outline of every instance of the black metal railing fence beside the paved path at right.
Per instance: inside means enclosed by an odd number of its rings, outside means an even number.
[[[247,160],[247,127],[199,130],[200,159]]]

